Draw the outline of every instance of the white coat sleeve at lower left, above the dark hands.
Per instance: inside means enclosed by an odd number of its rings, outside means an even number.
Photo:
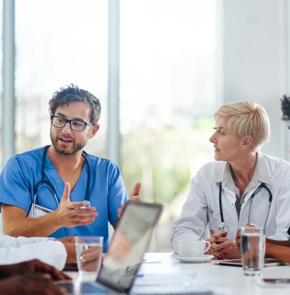
[[[32,259],[62,270],[66,264],[67,251],[62,242],[52,238],[13,238],[0,235],[0,264],[13,264]]]

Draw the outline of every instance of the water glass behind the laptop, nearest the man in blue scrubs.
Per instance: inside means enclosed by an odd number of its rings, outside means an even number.
[[[94,235],[75,237],[76,262],[78,272],[98,274],[102,262],[103,237]]]

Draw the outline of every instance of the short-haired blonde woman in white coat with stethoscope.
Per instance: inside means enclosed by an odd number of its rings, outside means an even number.
[[[271,239],[287,240],[290,163],[259,152],[270,138],[265,109],[253,102],[229,103],[217,110],[215,120],[210,141],[216,161],[201,167],[191,180],[173,224],[172,250],[179,253],[179,240],[197,239],[208,223],[218,232],[222,221],[228,227],[226,238],[209,250],[217,258],[240,257],[235,236],[248,222],[265,226]]]

